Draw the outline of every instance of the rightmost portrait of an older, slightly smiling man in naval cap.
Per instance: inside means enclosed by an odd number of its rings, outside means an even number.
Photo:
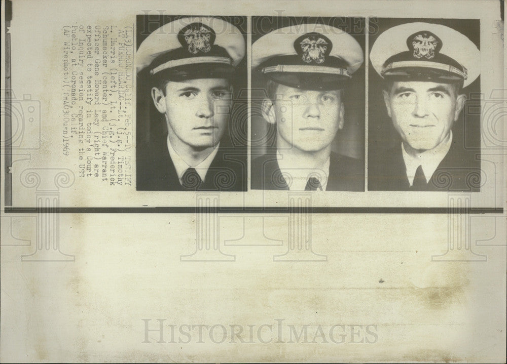
[[[382,105],[370,103],[368,189],[478,191],[479,120],[463,112],[479,93],[478,46],[450,26],[408,22],[383,31],[370,60],[383,80],[370,83]]]

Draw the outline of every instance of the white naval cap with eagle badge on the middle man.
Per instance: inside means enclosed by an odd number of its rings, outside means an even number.
[[[252,45],[252,68],[295,88],[341,89],[363,61],[354,37],[324,24],[279,28]]]

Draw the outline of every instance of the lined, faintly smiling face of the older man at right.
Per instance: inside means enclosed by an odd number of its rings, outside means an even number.
[[[383,93],[394,128],[418,152],[446,140],[465,102],[453,86],[434,82],[394,82]]]

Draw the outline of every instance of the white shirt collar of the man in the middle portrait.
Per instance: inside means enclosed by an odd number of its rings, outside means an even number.
[[[278,150],[276,151],[276,160],[289,190],[304,191],[310,177],[315,177],[319,180],[322,190],[325,191],[325,188],[328,186],[329,157],[320,168],[301,168],[297,163],[289,160],[289,158],[284,158]]]

